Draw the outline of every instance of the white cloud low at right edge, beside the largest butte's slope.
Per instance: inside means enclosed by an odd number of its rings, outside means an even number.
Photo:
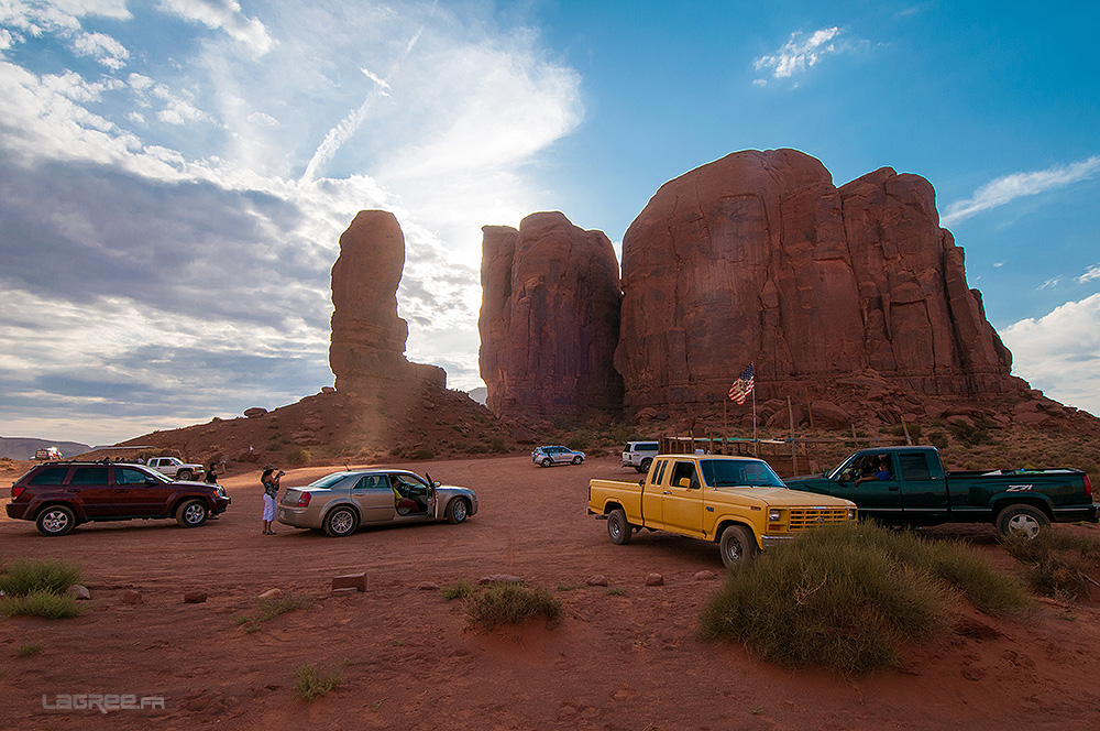
[[[1012,370],[1046,395],[1100,415],[1100,294],[1000,331]]]

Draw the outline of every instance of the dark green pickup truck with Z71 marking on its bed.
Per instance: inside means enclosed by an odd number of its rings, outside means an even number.
[[[1052,522],[1097,521],[1092,483],[1081,470],[946,472],[935,447],[879,447],[849,456],[787,487],[846,498],[862,517],[887,525],[992,523],[1035,536]]]

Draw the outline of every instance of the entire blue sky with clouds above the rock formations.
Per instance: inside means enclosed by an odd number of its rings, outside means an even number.
[[[481,227],[616,246],[668,179],[795,148],[928,178],[1014,372],[1100,413],[1100,8],[0,0],[0,433],[94,444],[332,383],[355,211],[407,354],[477,378]]]

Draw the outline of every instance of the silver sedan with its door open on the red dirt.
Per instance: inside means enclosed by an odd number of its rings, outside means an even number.
[[[278,503],[278,522],[345,536],[361,525],[462,523],[477,512],[469,488],[432,482],[405,470],[333,472],[306,485],[288,488]]]

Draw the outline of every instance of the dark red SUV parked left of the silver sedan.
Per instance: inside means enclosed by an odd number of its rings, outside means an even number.
[[[8,516],[34,521],[43,535],[65,535],[88,521],[175,517],[185,528],[226,512],[224,488],[169,480],[142,465],[47,462],[11,488]]]

